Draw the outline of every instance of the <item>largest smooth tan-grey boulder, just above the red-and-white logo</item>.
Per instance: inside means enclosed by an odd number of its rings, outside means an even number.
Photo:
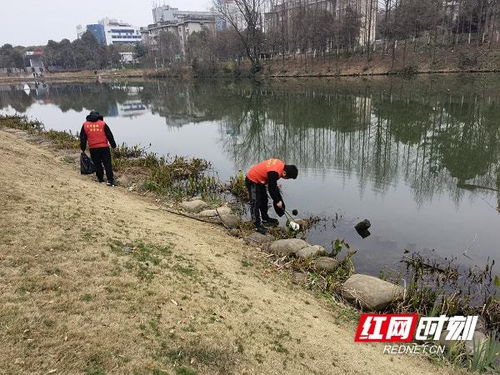
[[[342,285],[347,300],[368,310],[380,310],[403,298],[404,289],[377,277],[354,274]]]

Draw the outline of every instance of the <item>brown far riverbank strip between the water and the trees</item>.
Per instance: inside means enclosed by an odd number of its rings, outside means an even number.
[[[500,51],[498,48],[458,45],[449,48],[420,46],[413,48],[409,43],[394,51],[376,50],[370,57],[366,53],[350,55],[313,56],[295,54],[281,58],[274,56],[262,60],[263,69],[256,76],[258,80],[276,78],[307,77],[376,77],[388,75],[416,74],[471,74],[500,72]],[[112,69],[77,72],[45,73],[34,78],[31,74],[0,75],[0,84],[19,82],[91,82],[111,80],[142,80],[148,78],[249,78],[249,64],[242,62],[220,62],[192,66],[176,65],[165,69]]]

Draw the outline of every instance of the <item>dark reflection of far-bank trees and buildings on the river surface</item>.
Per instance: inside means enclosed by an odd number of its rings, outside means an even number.
[[[218,121],[224,152],[238,168],[280,157],[302,168],[356,174],[384,193],[411,186],[420,205],[458,202],[465,190],[496,193],[500,209],[499,82],[490,77],[250,83],[39,84],[0,87],[0,108],[34,102],[106,116],[151,111],[167,126]]]

